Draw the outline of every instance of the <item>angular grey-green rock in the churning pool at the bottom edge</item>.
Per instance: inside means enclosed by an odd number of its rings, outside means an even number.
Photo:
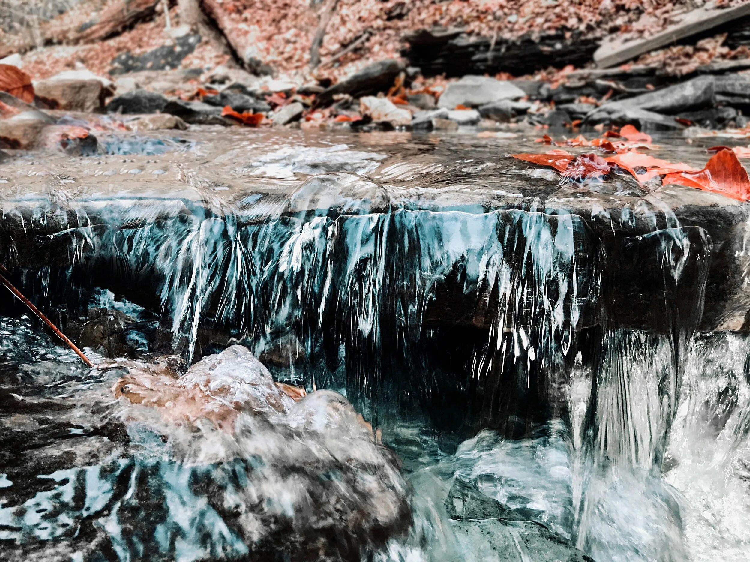
[[[593,562],[565,539],[516,509],[456,479],[446,511],[461,546],[487,562]]]

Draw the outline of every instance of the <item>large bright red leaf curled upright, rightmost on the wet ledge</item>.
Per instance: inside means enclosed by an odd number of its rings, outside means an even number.
[[[739,164],[737,155],[731,150],[717,152],[703,170],[669,173],[664,176],[662,183],[715,191],[740,201],[750,198],[750,178],[747,170]]]

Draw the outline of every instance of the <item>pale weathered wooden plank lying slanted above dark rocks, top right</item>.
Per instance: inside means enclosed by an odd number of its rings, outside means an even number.
[[[750,2],[733,8],[697,8],[677,18],[676,23],[650,37],[627,39],[615,36],[605,39],[594,53],[594,62],[599,68],[621,65],[643,53],[659,49],[696,33],[705,32],[722,23],[750,14]]]

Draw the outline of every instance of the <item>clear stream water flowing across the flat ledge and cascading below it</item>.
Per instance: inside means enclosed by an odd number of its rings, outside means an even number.
[[[685,188],[506,156],[535,136],[104,131],[95,155],[14,155],[1,263],[95,362],[130,362],[89,371],[0,307],[0,557],[746,560],[748,223],[714,241]],[[719,247],[736,271],[711,272]],[[346,396],[398,462],[304,402],[227,432],[112,393],[133,359],[232,344]],[[471,515],[464,483],[512,516]]]

